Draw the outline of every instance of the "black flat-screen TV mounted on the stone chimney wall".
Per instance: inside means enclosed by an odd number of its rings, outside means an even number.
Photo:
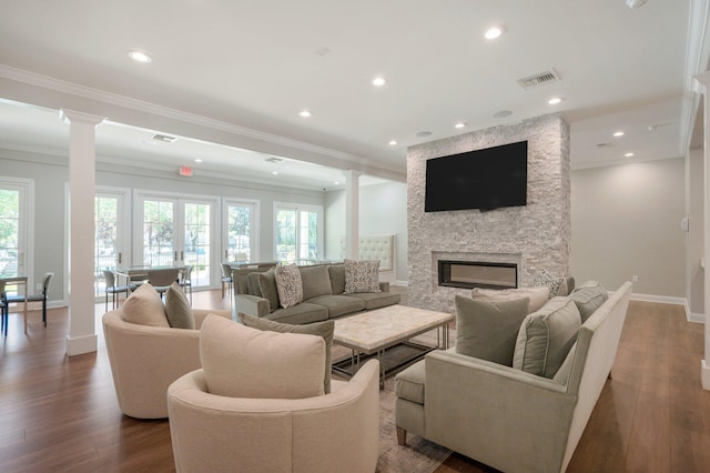
[[[426,162],[425,212],[527,204],[528,142],[468,151]]]

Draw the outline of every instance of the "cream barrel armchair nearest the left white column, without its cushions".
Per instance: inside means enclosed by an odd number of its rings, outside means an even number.
[[[113,384],[119,406],[125,415],[168,417],[168,386],[201,366],[200,326],[210,313],[232,318],[230,311],[195,309],[195,330],[187,330],[128,322],[123,308],[103,315]]]

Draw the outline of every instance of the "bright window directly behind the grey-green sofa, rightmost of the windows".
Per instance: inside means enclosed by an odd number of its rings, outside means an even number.
[[[308,264],[323,259],[323,208],[275,205],[276,260]]]

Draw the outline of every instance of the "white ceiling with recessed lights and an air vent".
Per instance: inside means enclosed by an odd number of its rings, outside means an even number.
[[[102,160],[313,189],[342,183],[351,168],[404,179],[407,147],[554,112],[571,124],[574,168],[681,157],[694,119],[692,76],[708,63],[708,3],[4,1],[0,147],[62,152],[68,129],[55,109],[77,104],[109,120],[97,132]],[[486,41],[494,24],[506,32]],[[130,50],[153,61],[133,62]],[[529,90],[517,82],[550,69],[560,81]],[[373,87],[376,76],[387,83]],[[564,101],[549,105],[551,97]],[[132,123],[118,105],[187,127]],[[302,109],[313,117],[298,117]],[[510,115],[494,117],[504,110]],[[459,121],[467,127],[454,129]],[[619,130],[626,134],[612,137]],[[146,144],[152,131],[181,138]],[[209,144],[207,135],[260,152]],[[284,161],[265,161],[274,155]]]

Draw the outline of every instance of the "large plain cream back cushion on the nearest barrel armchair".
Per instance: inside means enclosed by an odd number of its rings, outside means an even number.
[[[200,331],[200,360],[212,394],[303,399],[324,393],[321,336],[265,332],[210,314]]]

